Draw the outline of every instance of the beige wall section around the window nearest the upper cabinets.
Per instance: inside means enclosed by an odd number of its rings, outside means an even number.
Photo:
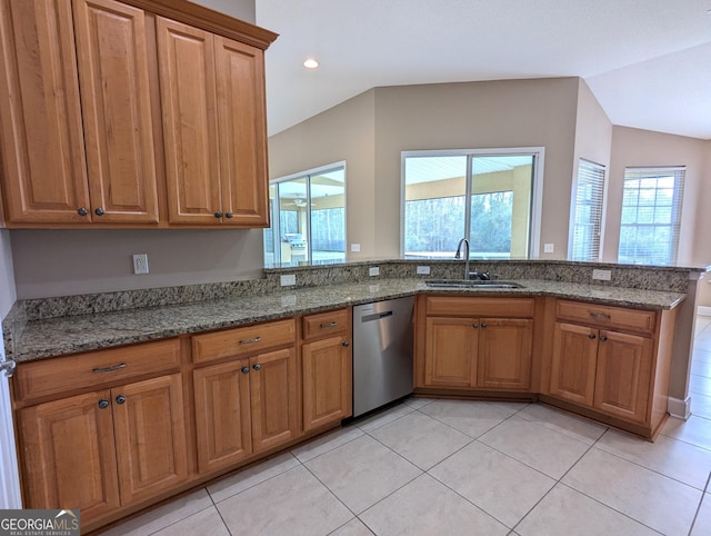
[[[375,249],[375,91],[370,90],[269,138],[272,179],[346,161],[348,258],[372,257]],[[360,244],[351,252],[350,244]]]

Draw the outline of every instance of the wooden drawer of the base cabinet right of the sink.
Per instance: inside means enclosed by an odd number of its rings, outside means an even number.
[[[627,309],[624,307],[585,304],[559,299],[555,316],[561,320],[583,322],[599,328],[615,328],[652,335],[657,314],[650,310]]]

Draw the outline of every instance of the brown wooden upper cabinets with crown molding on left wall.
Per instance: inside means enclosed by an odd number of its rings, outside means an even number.
[[[274,33],[181,0],[0,10],[8,227],[269,225]]]

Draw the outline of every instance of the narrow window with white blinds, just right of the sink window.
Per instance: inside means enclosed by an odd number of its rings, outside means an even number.
[[[600,260],[604,166],[581,159],[571,212],[570,260]]]

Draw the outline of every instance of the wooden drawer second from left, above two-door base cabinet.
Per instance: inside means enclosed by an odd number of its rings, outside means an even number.
[[[293,318],[192,337],[192,360],[213,361],[288,345],[297,339]]]

